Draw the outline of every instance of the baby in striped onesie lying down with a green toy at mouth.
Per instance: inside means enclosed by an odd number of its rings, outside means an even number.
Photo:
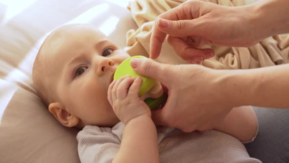
[[[62,125],[81,130],[76,138],[82,163],[261,163],[241,143],[257,133],[251,107],[233,108],[216,130],[203,133],[156,127],[138,96],[142,80],[113,80],[128,57],[87,25],[56,29],[36,56],[35,89]]]

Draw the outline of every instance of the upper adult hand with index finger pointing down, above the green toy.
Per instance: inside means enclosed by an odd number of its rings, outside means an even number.
[[[214,55],[212,49],[198,49],[203,45],[254,45],[265,38],[256,8],[188,0],[158,16],[150,38],[150,57],[159,56],[167,34],[167,42],[176,53],[193,63]]]

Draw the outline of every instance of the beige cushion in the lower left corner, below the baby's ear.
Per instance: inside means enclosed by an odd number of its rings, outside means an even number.
[[[14,94],[1,120],[0,162],[79,163],[78,131],[60,125],[35,94],[8,90]]]

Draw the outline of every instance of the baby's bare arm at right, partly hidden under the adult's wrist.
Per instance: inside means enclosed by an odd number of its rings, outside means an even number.
[[[233,108],[216,130],[238,138],[241,142],[251,141],[257,133],[258,120],[251,106]]]

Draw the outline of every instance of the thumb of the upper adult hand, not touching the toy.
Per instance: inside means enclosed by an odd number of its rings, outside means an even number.
[[[177,20],[171,21],[163,18],[157,18],[156,26],[159,30],[174,37],[186,37],[200,34],[196,27],[196,20]]]

